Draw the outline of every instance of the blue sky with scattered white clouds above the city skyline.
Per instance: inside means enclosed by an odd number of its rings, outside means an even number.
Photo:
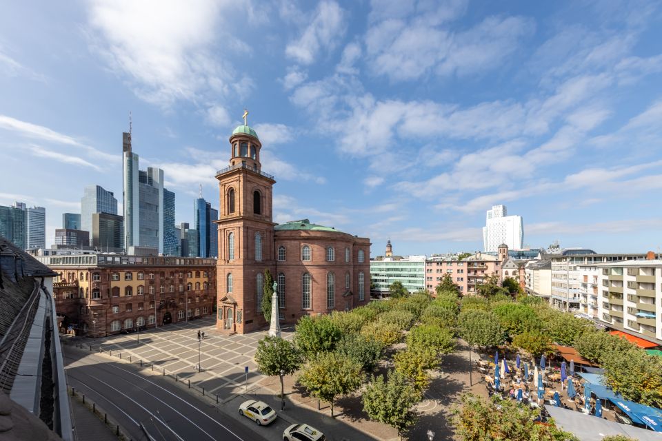
[[[121,203],[131,111],[190,222],[248,107],[275,220],[373,256],[481,249],[498,203],[531,246],[662,245],[660,2],[261,3],[7,3],[0,204],[45,206],[50,244],[85,185]]]

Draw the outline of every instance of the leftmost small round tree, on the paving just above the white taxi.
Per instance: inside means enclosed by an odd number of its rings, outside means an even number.
[[[297,371],[301,367],[303,356],[294,343],[280,337],[266,336],[257,344],[255,361],[263,374],[280,377],[283,398],[283,375],[292,375]]]

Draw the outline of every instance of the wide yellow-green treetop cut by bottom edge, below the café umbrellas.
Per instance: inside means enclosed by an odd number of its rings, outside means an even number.
[[[539,424],[540,409],[529,409],[514,400],[491,401],[467,393],[456,407],[454,423],[463,441],[579,441],[553,423]]]

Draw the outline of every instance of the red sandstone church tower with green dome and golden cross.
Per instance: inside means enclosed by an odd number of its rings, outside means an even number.
[[[262,172],[262,144],[248,126],[230,136],[230,166],[219,170],[219,259],[217,263],[217,329],[244,333],[265,324],[261,312],[264,271],[274,275],[272,186]]]

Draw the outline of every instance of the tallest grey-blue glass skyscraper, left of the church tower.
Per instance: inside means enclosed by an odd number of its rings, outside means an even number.
[[[122,154],[124,247],[128,251],[130,247],[150,247],[159,254],[177,256],[174,193],[163,188],[163,170],[139,170],[130,130],[122,134]]]

